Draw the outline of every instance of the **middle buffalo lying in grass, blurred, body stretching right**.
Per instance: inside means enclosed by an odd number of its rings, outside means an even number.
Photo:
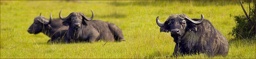
[[[63,25],[69,26],[64,38],[66,43],[71,41],[93,43],[101,39],[119,42],[125,40],[120,28],[109,22],[93,20],[94,14],[88,18],[81,12],[72,12],[63,18],[60,11],[59,16],[64,20]]]

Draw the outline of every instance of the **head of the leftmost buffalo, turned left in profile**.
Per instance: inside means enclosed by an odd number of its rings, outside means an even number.
[[[29,27],[27,30],[30,34],[38,34],[42,32],[44,29],[44,25],[48,25],[51,23],[51,13],[50,13],[50,20],[46,19],[44,16],[37,16],[34,19],[34,23]]]

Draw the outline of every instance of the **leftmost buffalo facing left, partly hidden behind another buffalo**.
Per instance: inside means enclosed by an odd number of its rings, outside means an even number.
[[[44,33],[51,39],[48,42],[58,42],[62,36],[67,32],[68,26],[63,26],[61,19],[52,20],[51,14],[50,19],[46,19],[44,16],[37,16],[34,19],[34,23],[27,30],[30,34]]]

